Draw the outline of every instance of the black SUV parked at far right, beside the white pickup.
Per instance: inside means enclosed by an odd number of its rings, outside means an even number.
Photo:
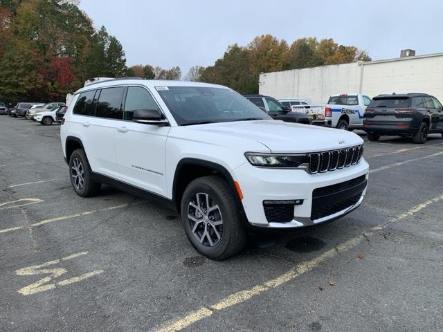
[[[371,141],[383,135],[407,136],[423,144],[429,133],[443,136],[443,107],[426,93],[377,95],[366,109],[364,130]]]

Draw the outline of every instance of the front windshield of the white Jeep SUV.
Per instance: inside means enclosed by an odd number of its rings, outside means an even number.
[[[179,125],[271,119],[233,90],[201,86],[157,86]]]

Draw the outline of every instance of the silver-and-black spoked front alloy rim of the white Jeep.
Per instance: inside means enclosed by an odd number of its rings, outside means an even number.
[[[199,192],[188,205],[188,224],[199,243],[213,247],[223,234],[223,219],[219,205],[206,193]]]

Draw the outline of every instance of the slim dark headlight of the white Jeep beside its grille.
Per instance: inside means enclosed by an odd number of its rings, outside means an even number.
[[[244,156],[251,165],[257,167],[295,168],[309,163],[307,154],[256,154],[246,152]]]

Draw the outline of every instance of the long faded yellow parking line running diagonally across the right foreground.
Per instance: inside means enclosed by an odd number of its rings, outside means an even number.
[[[202,306],[197,311],[194,311],[192,313],[189,313],[185,317],[181,317],[178,320],[174,320],[173,322],[166,323],[163,325],[160,329],[157,329],[157,332],[172,332],[172,331],[180,331],[182,329],[185,329],[186,327],[194,324],[195,322],[198,322],[199,320],[203,320],[206,317],[210,317],[215,313],[216,311],[221,311],[226,308],[229,308],[230,306],[234,306],[235,304],[239,304],[242,302],[246,302],[248,299],[251,299],[252,297],[255,297],[256,295],[260,295],[261,293],[264,293],[266,291],[270,291],[273,288],[277,288],[278,286],[281,286],[282,284],[285,284],[287,282],[290,282],[297,277],[300,277],[300,275],[303,275],[310,270],[316,268],[320,263],[323,263],[326,259],[332,258],[339,253],[347,252],[354,248],[356,245],[361,243],[361,241],[368,239],[368,237],[371,237],[372,235],[376,234],[377,231],[382,230],[390,223],[401,221],[405,219],[408,216],[413,216],[413,214],[419,212],[420,210],[423,210],[428,205],[431,205],[433,203],[437,203],[443,201],[443,194],[440,196],[437,196],[433,199],[430,199],[426,202],[420,203],[419,205],[416,205],[412,209],[408,210],[407,212],[404,212],[402,214],[398,214],[394,218],[390,219],[387,223],[384,223],[383,225],[377,225],[372,228],[368,228],[363,232],[362,234],[357,235],[356,237],[352,237],[351,239],[345,241],[344,243],[339,244],[338,246],[335,246],[332,249],[329,249],[322,254],[320,254],[318,257],[315,257],[314,259],[311,259],[309,261],[302,262],[298,264],[297,266],[291,268],[287,273],[284,273],[278,277],[275,277],[274,279],[270,279],[262,284],[258,284],[256,286],[253,286],[251,288],[247,288],[243,291],[239,291],[237,293],[233,293],[232,295],[229,295],[228,297],[225,297],[224,299],[221,299],[220,302],[217,304],[213,304],[210,306]]]

